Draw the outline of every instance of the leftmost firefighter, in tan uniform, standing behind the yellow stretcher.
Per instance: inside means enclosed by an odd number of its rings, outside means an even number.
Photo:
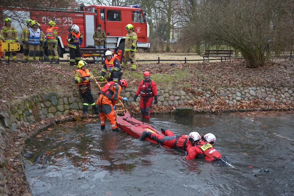
[[[4,26],[1,29],[1,36],[5,41],[12,41],[18,43],[17,31],[14,26],[11,25],[11,19],[6,18],[4,20]],[[5,60],[8,60],[9,52],[5,52]],[[12,61],[16,60],[16,53],[11,52]]]

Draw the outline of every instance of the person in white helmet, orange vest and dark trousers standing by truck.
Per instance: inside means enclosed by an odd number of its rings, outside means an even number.
[[[83,43],[83,35],[78,25],[74,24],[67,36],[67,46],[69,46],[69,65],[74,66],[81,60],[80,45]]]

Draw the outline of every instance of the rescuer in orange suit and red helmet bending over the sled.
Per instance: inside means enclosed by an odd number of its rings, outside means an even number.
[[[127,86],[128,83],[125,79],[121,79],[117,83],[110,81],[99,92],[96,104],[100,113],[101,130],[105,129],[105,120],[107,117],[110,121],[112,131],[118,131],[114,108],[118,99],[128,100],[126,97],[123,98],[120,96],[121,89]]]

